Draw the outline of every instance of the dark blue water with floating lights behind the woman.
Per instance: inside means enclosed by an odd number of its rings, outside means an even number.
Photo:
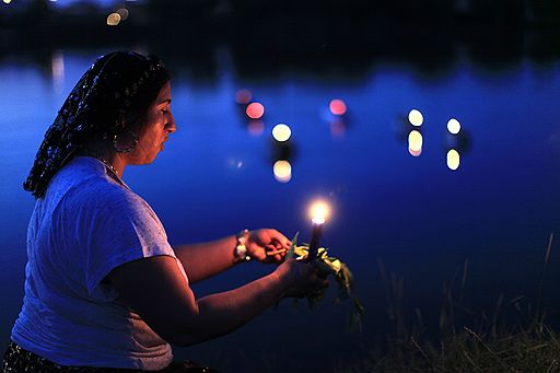
[[[66,95],[104,51],[61,50],[44,65],[19,56],[0,63],[3,340],[21,306],[34,203],[22,182]],[[328,200],[332,217],[323,244],[354,272],[368,313],[362,333],[350,334],[350,307],[332,305],[334,291],[316,310],[294,310],[284,301],[228,337],[177,349],[180,357],[228,372],[346,365],[390,329],[380,263],[404,278],[405,312],[418,307],[428,323],[439,317],[443,283],[465,260],[465,302],[477,312],[493,310],[500,293],[535,302],[549,236],[560,228],[559,61],[521,58],[489,70],[463,57],[427,75],[381,59],[351,79],[295,70],[255,79],[236,72],[228,48],[214,57],[211,79],[176,74],[177,131],[154,164],[128,168],[126,182],[152,205],[172,244],[262,226],[288,236],[300,231],[306,241],[310,202]],[[260,135],[235,103],[240,89],[265,105]],[[348,106],[341,123],[328,114],[332,98]],[[412,108],[424,117],[420,156],[408,151],[406,117]],[[447,132],[450,118],[460,121],[464,142]],[[279,123],[292,129],[289,183],[272,171],[278,148],[271,129]],[[452,147],[460,154],[456,171],[446,165]],[[552,317],[560,310],[553,291],[559,249],[552,245],[542,288]],[[195,292],[228,290],[270,270],[238,266]]]

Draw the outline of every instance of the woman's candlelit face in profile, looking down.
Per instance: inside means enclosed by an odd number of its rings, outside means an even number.
[[[171,113],[171,84],[165,83],[145,116],[132,131],[138,138],[136,149],[127,154],[129,164],[152,163],[163,150],[163,143],[175,132],[175,119]]]

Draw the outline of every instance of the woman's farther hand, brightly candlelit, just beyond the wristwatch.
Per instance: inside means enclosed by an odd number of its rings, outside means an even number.
[[[260,263],[282,263],[291,242],[282,233],[272,229],[249,231],[245,247],[247,255]]]

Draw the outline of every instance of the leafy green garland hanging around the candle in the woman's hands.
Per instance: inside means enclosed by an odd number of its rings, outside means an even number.
[[[310,245],[302,244],[301,246],[298,246],[298,235],[299,232],[295,233],[294,237],[292,238],[292,245],[285,255],[287,259],[307,259],[310,254]],[[335,277],[335,280],[338,283],[338,294],[335,298],[335,304],[348,299],[352,301],[354,308],[350,314],[350,324],[352,327],[359,326],[361,316],[364,313],[364,308],[360,300],[352,293],[353,276],[348,266],[340,259],[329,256],[328,249],[326,247],[319,247],[317,249],[317,257],[315,258],[314,264],[323,275],[332,275]],[[324,296],[325,293],[320,292],[317,295],[307,296],[307,301],[310,302],[311,306],[314,306],[323,301]]]

